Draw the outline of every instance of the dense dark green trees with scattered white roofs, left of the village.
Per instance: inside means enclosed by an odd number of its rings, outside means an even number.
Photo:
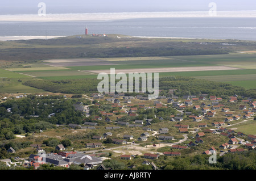
[[[76,102],[63,96],[35,95],[7,100],[0,104],[0,138],[10,140],[15,134],[44,131],[55,128],[56,124],[82,124],[82,112],[73,107]]]

